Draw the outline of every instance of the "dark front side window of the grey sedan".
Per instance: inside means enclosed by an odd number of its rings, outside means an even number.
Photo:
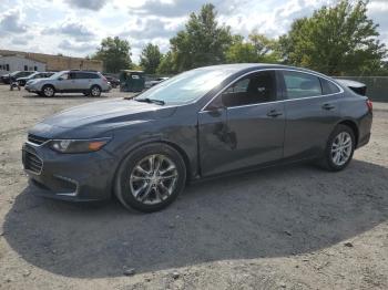
[[[222,103],[226,107],[259,104],[276,101],[276,74],[263,71],[249,74],[226,89]]]

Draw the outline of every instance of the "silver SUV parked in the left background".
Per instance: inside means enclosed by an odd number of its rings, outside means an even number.
[[[55,93],[100,96],[101,92],[109,92],[111,89],[108,80],[94,71],[62,71],[48,79],[30,80],[25,84],[28,92],[48,97],[54,96]]]

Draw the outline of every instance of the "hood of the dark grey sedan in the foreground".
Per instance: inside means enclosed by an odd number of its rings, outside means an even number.
[[[110,127],[118,123],[169,117],[175,107],[142,103],[125,99],[93,102],[72,107],[43,120],[43,124],[63,127]]]

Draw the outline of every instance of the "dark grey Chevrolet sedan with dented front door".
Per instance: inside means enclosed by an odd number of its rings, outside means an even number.
[[[84,201],[113,193],[125,207],[155,211],[187,183],[231,172],[308,159],[341,170],[369,142],[371,122],[371,102],[324,74],[216,65],[133,100],[48,117],[29,131],[22,159],[38,195]]]

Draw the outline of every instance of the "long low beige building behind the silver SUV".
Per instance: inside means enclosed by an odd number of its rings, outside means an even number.
[[[34,52],[22,52],[11,50],[0,50],[2,56],[21,56],[37,62],[45,63],[47,71],[65,71],[65,70],[103,70],[102,61],[88,60],[82,58],[71,58],[63,55],[43,54]]]

